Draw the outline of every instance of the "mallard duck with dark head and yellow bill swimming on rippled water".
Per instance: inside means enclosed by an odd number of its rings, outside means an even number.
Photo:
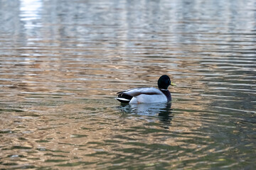
[[[157,81],[158,89],[154,87],[138,87],[128,89],[126,91],[117,92],[118,97],[115,98],[121,103],[139,104],[139,103],[164,103],[171,101],[171,93],[169,86],[176,86],[170,77],[162,75]]]

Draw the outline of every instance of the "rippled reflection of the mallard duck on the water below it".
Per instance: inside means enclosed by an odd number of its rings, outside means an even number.
[[[162,128],[169,128],[173,118],[171,103],[122,104],[118,108],[122,113],[148,116],[158,115]]]

